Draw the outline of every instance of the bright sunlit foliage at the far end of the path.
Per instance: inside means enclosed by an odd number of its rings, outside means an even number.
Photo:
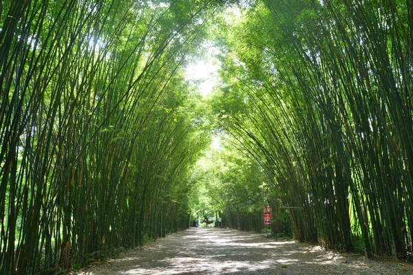
[[[193,219],[211,222],[209,218],[215,217],[215,224],[224,228],[262,232],[263,203],[277,198],[268,195],[271,190],[263,183],[260,166],[231,144],[222,141],[220,147],[208,151],[194,166]],[[278,227],[283,225],[277,223]]]

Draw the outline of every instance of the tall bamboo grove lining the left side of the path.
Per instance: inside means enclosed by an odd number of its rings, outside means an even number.
[[[207,139],[181,67],[211,4],[1,1],[1,274],[83,267],[189,226]]]

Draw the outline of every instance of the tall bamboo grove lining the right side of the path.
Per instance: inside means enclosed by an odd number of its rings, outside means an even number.
[[[215,100],[295,239],[412,252],[413,1],[253,1]],[[231,108],[229,108],[231,103]]]

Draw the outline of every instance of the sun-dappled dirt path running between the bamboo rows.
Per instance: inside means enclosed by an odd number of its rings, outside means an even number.
[[[395,261],[337,254],[263,234],[191,228],[130,250],[83,275],[102,274],[413,274]]]

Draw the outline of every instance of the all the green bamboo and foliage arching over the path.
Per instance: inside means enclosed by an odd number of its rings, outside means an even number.
[[[83,267],[191,212],[260,231],[267,205],[299,241],[411,255],[413,1],[228,2],[0,1],[1,274]],[[183,67],[207,38],[205,101]]]

